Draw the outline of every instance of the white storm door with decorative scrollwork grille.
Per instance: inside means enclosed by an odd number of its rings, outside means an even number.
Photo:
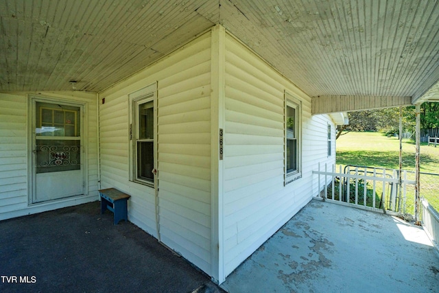
[[[82,106],[34,101],[32,203],[84,194]]]

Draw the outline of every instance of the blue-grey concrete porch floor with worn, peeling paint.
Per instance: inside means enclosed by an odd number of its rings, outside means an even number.
[[[439,292],[422,228],[312,200],[221,285],[228,292]]]

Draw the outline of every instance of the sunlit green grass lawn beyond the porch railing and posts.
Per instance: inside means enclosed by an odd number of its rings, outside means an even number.
[[[337,139],[337,165],[399,169],[399,139],[379,132],[348,132]],[[415,169],[414,141],[403,141],[403,169]],[[337,169],[338,170],[338,169]],[[421,143],[420,172],[439,174],[439,148]],[[421,174],[420,195],[439,210],[439,176]],[[407,189],[407,212],[413,213],[414,189]]]

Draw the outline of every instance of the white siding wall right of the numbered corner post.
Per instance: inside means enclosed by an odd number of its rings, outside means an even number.
[[[317,194],[312,170],[335,155],[327,153],[331,119],[311,116],[309,96],[228,34],[225,80],[226,277]],[[302,178],[284,187],[285,91],[302,103]]]

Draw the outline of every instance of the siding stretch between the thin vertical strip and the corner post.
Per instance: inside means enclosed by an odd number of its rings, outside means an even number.
[[[205,46],[192,65],[158,80],[158,210],[162,241],[210,272],[210,43]]]

